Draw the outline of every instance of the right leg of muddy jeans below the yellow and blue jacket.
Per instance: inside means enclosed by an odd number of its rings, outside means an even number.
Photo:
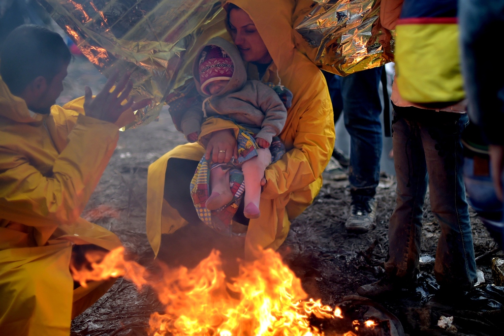
[[[468,117],[433,113],[435,122],[421,125],[421,137],[429,174],[430,206],[441,227],[434,273],[439,285],[468,290],[476,279],[460,142]]]

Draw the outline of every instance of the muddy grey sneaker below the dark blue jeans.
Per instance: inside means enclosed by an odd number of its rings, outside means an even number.
[[[350,233],[366,233],[374,229],[377,201],[373,197],[353,196],[350,204],[350,217],[345,229]]]

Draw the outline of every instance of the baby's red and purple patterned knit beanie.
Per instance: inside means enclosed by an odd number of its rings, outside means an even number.
[[[231,57],[216,45],[207,45],[200,55],[201,91],[210,94],[207,86],[215,81],[228,81],[233,76],[234,65]]]

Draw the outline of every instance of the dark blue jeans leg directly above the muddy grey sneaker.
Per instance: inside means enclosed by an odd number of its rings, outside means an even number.
[[[341,79],[343,116],[350,134],[348,180],[352,196],[374,196],[380,181],[382,103],[379,95],[383,66]]]

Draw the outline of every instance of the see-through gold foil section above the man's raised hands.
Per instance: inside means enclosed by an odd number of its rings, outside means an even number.
[[[156,120],[169,91],[192,75],[192,52],[226,34],[218,0],[37,1],[102,74],[129,71],[133,95],[153,99],[125,128]]]

